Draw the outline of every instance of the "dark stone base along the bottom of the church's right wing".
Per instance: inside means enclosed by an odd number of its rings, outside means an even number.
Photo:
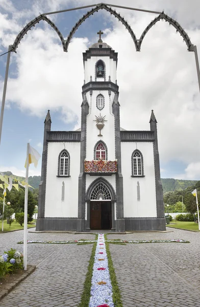
[[[165,231],[165,217],[125,217],[126,231]]]

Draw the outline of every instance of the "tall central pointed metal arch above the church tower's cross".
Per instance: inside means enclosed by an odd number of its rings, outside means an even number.
[[[136,38],[133,30],[131,29],[131,26],[129,26],[127,21],[124,20],[124,18],[121,17],[119,13],[117,13],[116,11],[113,11],[111,8],[107,7],[105,4],[97,5],[96,8],[91,9],[91,11],[88,11],[87,14],[83,15],[83,17],[81,19],[79,19],[78,23],[76,23],[76,25],[69,32],[69,35],[68,35],[67,40],[66,40],[66,51],[68,50],[69,42],[70,42],[73,34],[76,32],[76,30],[79,28],[79,26],[81,26],[83,21],[85,21],[90,15],[93,15],[93,13],[97,12],[100,9],[105,9],[107,12],[110,12],[112,15],[117,17],[119,19],[119,21],[121,21],[121,23],[126,27],[126,29],[128,29],[129,33],[131,34],[133,41],[135,43],[136,51],[140,51],[139,47],[138,47],[137,38]]]

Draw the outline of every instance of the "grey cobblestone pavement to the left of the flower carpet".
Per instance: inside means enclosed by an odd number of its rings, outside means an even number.
[[[28,239],[79,240],[94,235],[67,233],[28,233]],[[11,247],[23,250],[17,242],[23,231],[0,235],[0,254]],[[78,306],[83,292],[88,261],[93,245],[28,244],[28,264],[35,272],[0,301],[1,307],[68,307]]]

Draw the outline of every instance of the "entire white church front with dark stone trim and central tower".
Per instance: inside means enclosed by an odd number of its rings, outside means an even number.
[[[154,112],[147,131],[120,128],[117,53],[101,31],[83,61],[81,128],[44,121],[36,230],[165,230]]]

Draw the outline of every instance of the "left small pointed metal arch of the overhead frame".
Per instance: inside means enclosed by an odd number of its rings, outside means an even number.
[[[41,20],[44,20],[46,21],[47,24],[49,24],[55,31],[56,33],[58,34],[61,42],[62,42],[62,46],[63,46],[63,51],[67,51],[66,48],[65,48],[65,40],[62,36],[62,33],[59,31],[59,29],[57,28],[57,26],[53,23],[53,21],[49,18],[47,18],[45,15],[39,15],[38,17],[36,17],[35,19],[31,20],[30,23],[28,23],[20,32],[19,34],[17,35],[17,37],[15,38],[15,41],[12,45],[13,49],[12,51],[16,52],[16,49],[21,41],[21,39],[23,38],[23,36],[25,34],[27,34],[27,32],[29,30],[31,30],[32,27],[35,27],[36,24],[39,23],[39,21]]]

